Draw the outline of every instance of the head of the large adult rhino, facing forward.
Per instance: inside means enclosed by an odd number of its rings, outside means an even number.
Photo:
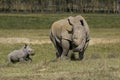
[[[68,18],[69,24],[72,26],[72,41],[73,41],[73,51],[80,51],[85,44],[86,33],[84,28],[84,22],[78,16]]]

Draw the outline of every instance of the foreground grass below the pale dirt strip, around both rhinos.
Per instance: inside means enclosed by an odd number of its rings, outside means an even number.
[[[2,46],[2,47],[1,47]],[[17,63],[7,65],[6,55],[22,44],[2,45],[0,59],[0,79],[2,80],[119,80],[120,74],[120,45],[105,44],[89,46],[83,61],[49,60],[55,57],[51,44],[32,46],[36,55],[31,64]],[[14,46],[14,48],[11,46]],[[4,51],[7,49],[6,51]],[[54,77],[53,77],[54,76]]]

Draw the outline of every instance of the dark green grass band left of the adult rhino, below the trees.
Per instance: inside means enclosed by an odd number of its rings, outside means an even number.
[[[1,14],[0,29],[49,29],[54,21],[69,15]]]

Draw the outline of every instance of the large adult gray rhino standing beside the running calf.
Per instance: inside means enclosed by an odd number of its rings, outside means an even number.
[[[52,24],[50,39],[56,48],[57,58],[67,57],[69,50],[79,53],[82,60],[89,44],[89,26],[81,16],[68,17]]]

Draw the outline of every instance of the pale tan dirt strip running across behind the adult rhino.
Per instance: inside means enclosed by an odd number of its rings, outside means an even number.
[[[119,43],[120,39],[106,39],[106,38],[91,38],[89,45]],[[31,44],[50,44],[49,39],[29,39],[29,38],[0,38],[0,43],[16,44],[16,43],[31,43]]]

